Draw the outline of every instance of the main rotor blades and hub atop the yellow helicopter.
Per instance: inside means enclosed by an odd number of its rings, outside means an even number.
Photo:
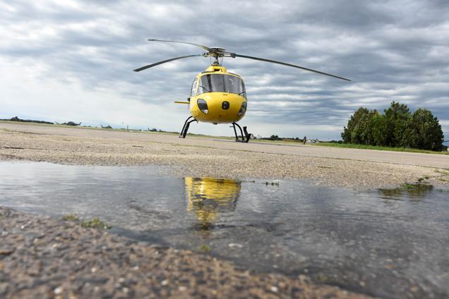
[[[148,39],[148,41],[150,41],[150,42],[174,42],[174,43],[178,43],[178,44],[191,44],[193,46],[200,47],[205,52],[203,52],[203,54],[175,57],[175,58],[172,58],[172,59],[167,59],[167,60],[164,60],[164,61],[159,61],[159,62],[156,62],[156,63],[148,64],[148,66],[143,66],[141,68],[136,68],[134,70],[135,72],[140,72],[140,71],[146,70],[147,68],[152,68],[153,66],[159,66],[162,63],[167,63],[167,62],[170,62],[170,61],[174,61],[174,60],[178,60],[178,59],[184,59],[184,58],[188,58],[188,57],[195,57],[195,56],[213,57],[215,60],[212,63],[212,65],[214,65],[214,66],[220,66],[220,61],[218,60],[219,58],[222,58],[222,57],[230,57],[230,58],[241,57],[241,58],[253,59],[253,60],[257,60],[257,61],[265,61],[265,62],[270,62],[270,63],[281,64],[282,66],[290,66],[292,68],[300,68],[301,70],[304,70],[304,71],[310,71],[310,72],[313,72],[313,73],[318,73],[318,74],[321,74],[321,75],[327,75],[329,77],[333,77],[333,78],[337,78],[337,79],[341,79],[341,80],[351,81],[351,80],[349,80],[347,78],[343,78],[343,77],[340,77],[340,76],[337,76],[337,75],[332,75],[330,73],[323,73],[321,71],[316,71],[316,70],[313,70],[311,68],[304,68],[303,66],[297,66],[297,65],[294,65],[294,64],[291,64],[291,63],[285,63],[285,62],[282,62],[282,61],[275,61],[275,60],[271,60],[271,59],[264,59],[264,58],[260,58],[260,57],[247,56],[247,55],[242,55],[242,54],[228,52],[228,51],[226,51],[226,49],[224,49],[222,47],[206,47],[206,46],[203,46],[202,44],[194,44],[193,42],[179,42],[179,41],[175,41],[175,40],[164,40],[164,39]]]

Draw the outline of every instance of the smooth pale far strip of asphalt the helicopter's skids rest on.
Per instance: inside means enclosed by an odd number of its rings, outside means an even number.
[[[449,156],[436,154],[421,154],[414,152],[390,152],[379,150],[358,150],[341,147],[316,147],[312,145],[288,145],[275,142],[222,142],[216,137],[202,137],[188,135],[185,139],[174,134],[128,132],[119,130],[95,130],[80,127],[63,126],[36,126],[35,124],[4,123],[0,128],[7,130],[23,130],[31,133],[49,135],[68,135],[88,138],[116,138],[124,140],[161,142],[174,145],[212,147],[222,150],[245,150],[269,154],[289,154],[304,157],[321,157],[333,159],[350,159],[358,161],[371,161],[391,164],[404,164],[449,169]]]

